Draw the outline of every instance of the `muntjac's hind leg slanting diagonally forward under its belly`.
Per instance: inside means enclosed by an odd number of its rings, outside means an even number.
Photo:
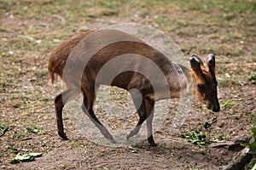
[[[113,144],[116,144],[117,142],[113,139],[113,136],[108,132],[108,129],[102,125],[102,122],[100,122],[94,111],[93,111],[93,105],[94,101],[96,99],[96,91],[94,89],[86,90],[86,93],[84,94],[84,101],[82,105],[82,111],[90,118],[90,121],[93,122],[96,127],[101,131],[103,136],[107,139],[109,139]]]

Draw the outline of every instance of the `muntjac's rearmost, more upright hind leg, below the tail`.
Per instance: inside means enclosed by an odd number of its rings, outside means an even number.
[[[64,133],[63,120],[62,120],[63,107],[65,104],[67,104],[68,101],[74,99],[75,96],[77,96],[78,94],[79,94],[79,91],[77,90],[67,89],[55,97],[55,113],[56,113],[56,119],[57,119],[58,134],[61,137],[61,139],[67,140],[67,136]]]

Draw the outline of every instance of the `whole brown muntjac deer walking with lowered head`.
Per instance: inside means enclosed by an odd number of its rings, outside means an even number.
[[[106,44],[106,42],[109,43]],[[111,71],[120,74],[113,77],[111,82],[108,81],[108,72],[106,71],[105,74],[102,74],[102,77],[97,77],[97,74],[111,59],[125,54],[131,56],[131,58],[123,58],[121,59],[122,62],[112,65]],[[154,75],[154,66],[143,62],[141,56],[159,67],[166,78],[167,90],[166,88],[154,89],[152,82],[150,82],[152,77],[151,79],[148,78]],[[69,58],[71,60],[68,62],[73,63],[73,65],[67,65]],[[67,139],[62,122],[62,109],[67,101],[82,93],[84,96],[82,105],[84,113],[89,116],[90,120],[107,139],[116,143],[108,129],[102,125],[93,111],[96,92],[101,84],[124,88],[131,93],[139,120],[137,126],[131,130],[126,139],[136,135],[142,123],[147,120],[148,143],[151,145],[155,145],[152,134],[152,120],[154,103],[157,100],[178,98],[181,94],[183,96],[192,94],[209,110],[218,112],[220,107],[218,104],[214,55],[208,55],[207,65],[204,65],[195,54],[192,55],[189,62],[191,69],[183,65],[177,65],[147,43],[123,31],[86,31],[68,38],[50,54],[48,65],[51,82],[55,82],[55,76],[59,76],[67,86],[61,94],[55,97],[58,134],[62,139]],[[82,66],[82,71],[76,70],[79,66]],[[65,71],[66,67],[67,71]],[[123,69],[128,67],[127,70]],[[148,73],[147,76],[140,73],[140,69]],[[181,74],[183,77],[179,78],[177,74]],[[157,76],[153,79],[159,87],[164,83],[162,81],[158,82]],[[133,93],[133,89],[137,89],[135,92],[140,92],[139,105],[137,102],[138,95]]]

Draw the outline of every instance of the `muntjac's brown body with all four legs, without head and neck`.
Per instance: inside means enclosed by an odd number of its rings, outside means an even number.
[[[55,81],[53,75],[56,74],[67,85],[66,90],[55,98],[59,135],[62,139],[67,139],[62,123],[63,106],[82,92],[82,110],[102,134],[115,143],[93,111],[96,91],[104,84],[124,88],[131,93],[139,121],[137,127],[127,135],[127,139],[136,135],[142,123],[147,120],[148,142],[154,145],[154,102],[179,97],[179,94],[171,92],[179,92],[183,88],[180,87],[175,68],[177,65],[174,67],[164,54],[122,31],[88,31],[62,42],[49,58],[52,82]]]

